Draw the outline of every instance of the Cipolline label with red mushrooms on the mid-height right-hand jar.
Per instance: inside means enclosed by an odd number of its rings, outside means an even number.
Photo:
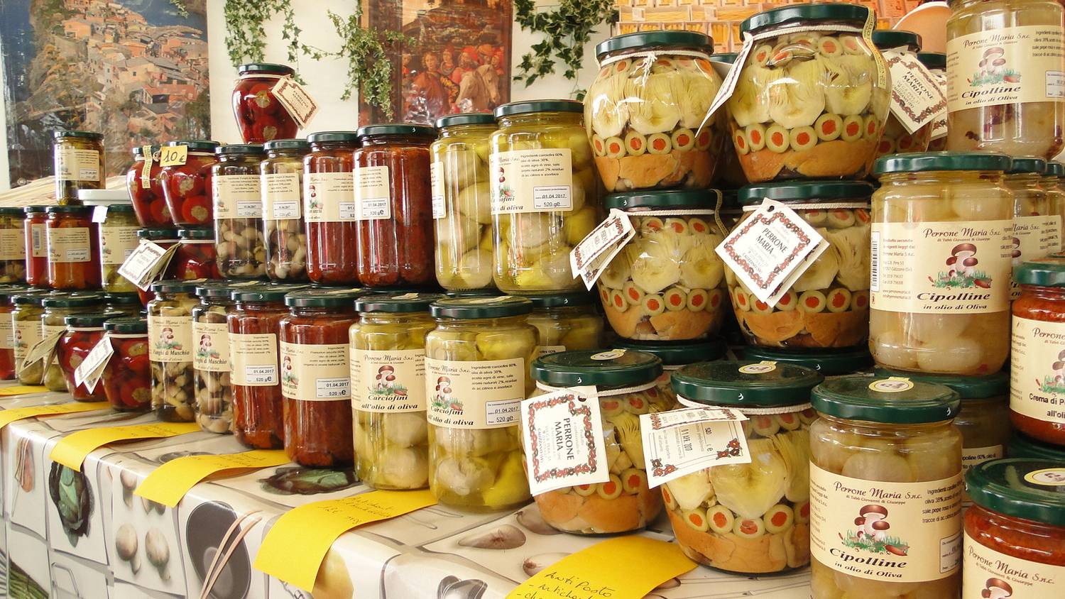
[[[1010,309],[1013,220],[876,222],[869,305],[919,314]]]

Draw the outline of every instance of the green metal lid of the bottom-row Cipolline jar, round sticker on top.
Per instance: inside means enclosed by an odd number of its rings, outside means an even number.
[[[829,416],[919,425],[957,415],[961,398],[950,387],[902,377],[840,377],[814,388],[814,410]]]

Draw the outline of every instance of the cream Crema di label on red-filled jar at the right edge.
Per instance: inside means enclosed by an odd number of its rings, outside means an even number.
[[[1065,423],[1065,323],[1013,317],[1010,410]]]

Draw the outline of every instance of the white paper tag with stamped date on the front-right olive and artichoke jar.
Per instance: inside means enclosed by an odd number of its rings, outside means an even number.
[[[747,437],[736,410],[682,407],[640,415],[648,486],[690,475],[710,466],[750,464]]]

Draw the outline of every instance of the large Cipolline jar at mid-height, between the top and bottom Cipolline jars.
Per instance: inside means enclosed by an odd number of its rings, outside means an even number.
[[[869,349],[879,366],[989,375],[1010,353],[1010,156],[929,152],[873,166]]]

